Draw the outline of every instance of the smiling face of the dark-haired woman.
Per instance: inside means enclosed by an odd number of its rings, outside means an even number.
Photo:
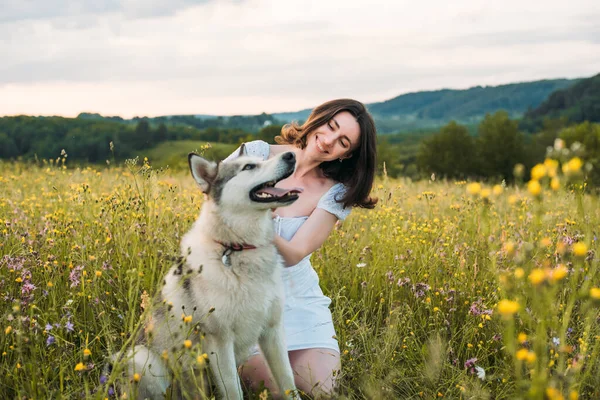
[[[348,158],[359,146],[360,126],[348,111],[333,116],[310,133],[305,151],[321,161]]]

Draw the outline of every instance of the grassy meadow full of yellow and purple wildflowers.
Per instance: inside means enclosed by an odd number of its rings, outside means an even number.
[[[377,207],[312,257],[340,397],[600,398],[600,204],[577,160],[514,186],[380,178]],[[105,357],[131,344],[203,197],[141,160],[0,171],[0,398],[109,398]]]

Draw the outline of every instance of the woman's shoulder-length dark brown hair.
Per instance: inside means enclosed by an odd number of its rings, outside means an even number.
[[[377,130],[373,117],[364,104],[352,99],[338,99],[323,103],[310,113],[304,124],[292,122],[284,125],[281,128],[281,135],[276,136],[275,141],[304,149],[308,135],[342,111],[348,111],[356,118],[360,127],[360,144],[352,152],[351,157],[342,162],[338,160],[322,162],[320,168],[326,177],[346,186],[347,191],[344,196],[336,199],[338,203],[342,203],[344,207],[373,208],[377,198],[369,194],[375,178]]]

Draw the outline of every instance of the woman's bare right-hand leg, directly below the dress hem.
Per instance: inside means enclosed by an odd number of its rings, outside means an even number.
[[[314,398],[333,395],[340,373],[340,353],[314,348],[290,351],[296,387]]]

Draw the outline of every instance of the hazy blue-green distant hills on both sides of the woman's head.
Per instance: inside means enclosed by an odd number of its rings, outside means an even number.
[[[435,130],[451,120],[475,125],[487,113],[505,110],[512,118],[521,118],[528,110],[538,107],[548,96],[567,89],[578,79],[552,79],[512,83],[500,86],[476,86],[469,89],[441,89],[407,93],[390,100],[367,104],[380,133],[423,132]],[[259,115],[167,115],[155,118],[102,117],[82,113],[81,119],[110,119],[124,123],[147,120],[151,125],[189,126],[197,129],[228,128],[257,132],[269,124],[282,125],[291,121],[305,121],[310,109]]]

